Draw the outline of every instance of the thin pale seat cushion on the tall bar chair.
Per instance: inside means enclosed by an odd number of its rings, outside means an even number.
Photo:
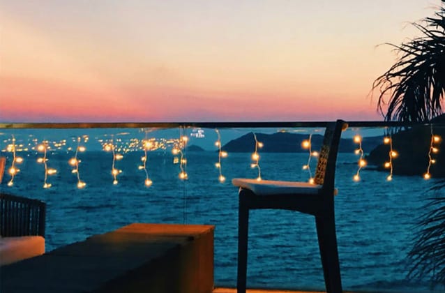
[[[316,195],[322,189],[321,185],[297,181],[273,181],[257,179],[232,179],[232,184],[241,188],[252,190],[256,195],[276,195],[303,193]]]

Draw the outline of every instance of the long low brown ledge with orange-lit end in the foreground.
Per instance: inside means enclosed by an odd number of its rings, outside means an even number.
[[[210,225],[132,224],[0,268],[0,292],[213,290]]]

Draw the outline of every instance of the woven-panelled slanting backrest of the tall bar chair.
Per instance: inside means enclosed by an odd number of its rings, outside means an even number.
[[[322,185],[324,189],[333,190],[335,179],[335,163],[337,162],[338,144],[342,130],[347,123],[342,120],[330,122],[326,126],[322,149],[319,152],[317,170],[315,170],[314,183]]]

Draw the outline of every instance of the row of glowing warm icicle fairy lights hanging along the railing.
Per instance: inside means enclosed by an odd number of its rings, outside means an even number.
[[[186,128],[180,128],[180,137],[179,140],[174,144],[174,147],[172,148],[172,154],[174,155],[174,163],[179,163],[179,179],[181,180],[187,180],[188,174],[187,174],[187,158],[186,158],[186,147],[189,140],[189,137],[186,134]],[[222,142],[221,142],[221,135],[220,131],[218,129],[215,129],[217,140],[215,142],[215,146],[218,147],[218,162],[215,163],[215,167],[218,170],[218,181],[220,183],[224,183],[226,181],[226,177],[223,175],[223,168],[222,168],[222,159],[226,158],[228,156],[227,151],[223,151]],[[257,138],[256,133],[252,133],[254,144],[255,144],[255,150],[253,153],[251,153],[251,160],[252,163],[250,164],[251,168],[257,169],[257,181],[262,180],[262,169],[259,165],[259,149],[262,149],[264,147],[263,142],[259,142]],[[87,140],[87,139],[86,139]],[[86,142],[86,140],[84,142]],[[426,167],[426,172],[423,174],[423,179],[428,180],[432,178],[431,174],[431,167],[433,164],[436,163],[435,156],[439,152],[438,144],[442,140],[439,135],[435,135],[433,132],[432,126],[430,128],[430,147],[428,149],[428,167]],[[10,167],[8,168],[7,174],[9,174],[10,179],[7,183],[7,186],[13,186],[15,183],[15,179],[17,176],[17,173],[20,172],[20,169],[17,167],[18,164],[21,164],[24,162],[24,159],[20,156],[17,156],[17,144],[16,144],[16,138],[14,135],[12,135],[12,139],[10,140],[11,143],[8,144],[6,147],[6,151],[11,153],[11,163]],[[357,170],[354,176],[352,176],[353,181],[360,181],[361,180],[361,171],[364,167],[367,166],[367,162],[364,158],[365,151],[363,150],[363,137],[361,135],[354,135],[353,141],[355,144],[358,144],[358,148],[355,149],[354,153],[359,156],[359,159],[357,161]],[[82,160],[80,160],[79,156],[80,153],[84,153],[86,151],[86,147],[81,144],[82,137],[77,137],[77,146],[75,147],[74,156],[68,160],[68,164],[73,168],[71,172],[77,176],[77,188],[82,189],[86,186],[86,182],[81,179],[80,176],[80,163],[82,163]],[[122,170],[119,169],[117,166],[117,161],[123,159],[123,154],[121,154],[119,151],[117,151],[117,143],[116,140],[114,140],[114,136],[111,135],[111,139],[107,140],[103,143],[103,151],[111,152],[112,153],[112,166],[111,166],[111,174],[112,174],[112,183],[114,185],[118,184],[118,176],[122,173]],[[391,181],[393,179],[393,164],[395,158],[398,157],[398,152],[393,148],[393,137],[391,135],[384,137],[383,143],[389,146],[389,152],[388,152],[388,160],[384,163],[384,167],[389,170],[389,174],[386,176],[387,181]],[[40,153],[41,155],[37,158],[37,163],[40,163],[44,167],[44,176],[43,176],[43,188],[50,188],[52,187],[52,183],[49,180],[49,176],[54,175],[57,173],[57,170],[53,167],[50,167],[49,164],[49,158],[48,158],[48,151],[51,149],[49,142],[47,140],[43,140],[40,143],[36,142],[36,151]],[[149,177],[149,168],[148,168],[148,153],[149,151],[152,151],[153,148],[153,142],[148,137],[148,131],[145,132],[145,138],[141,140],[142,144],[142,150],[144,152],[144,156],[142,156],[140,159],[142,161],[142,165],[138,166],[139,170],[144,170],[145,179],[144,179],[144,186],[149,187],[152,185],[153,181],[151,181]],[[301,148],[308,150],[308,160],[305,165],[303,165],[302,169],[306,170],[308,172],[309,179],[308,181],[310,183],[314,183],[314,179],[312,177],[312,172],[310,170],[310,164],[311,160],[314,157],[318,157],[319,153],[317,151],[312,151],[312,133],[310,133],[307,140],[303,140],[301,142]]]

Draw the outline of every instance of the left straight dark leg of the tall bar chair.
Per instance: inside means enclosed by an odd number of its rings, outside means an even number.
[[[246,293],[247,283],[247,246],[249,209],[243,197],[243,190],[239,193],[238,213],[238,276],[236,280],[237,293]]]

